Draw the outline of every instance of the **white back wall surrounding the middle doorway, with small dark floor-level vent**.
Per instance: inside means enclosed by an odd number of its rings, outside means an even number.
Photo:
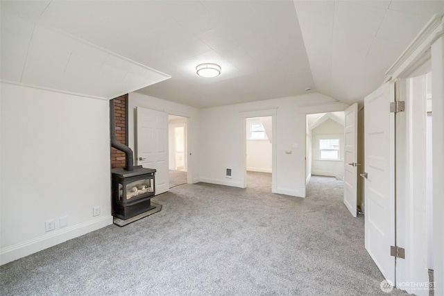
[[[243,112],[275,109],[278,169],[273,171],[276,178],[273,192],[305,197],[305,113],[342,111],[346,107],[344,104],[298,107],[316,101],[331,102],[332,99],[309,94],[200,110],[199,180],[243,187],[246,171]],[[293,143],[298,144],[298,148],[293,148]],[[232,168],[232,179],[225,178],[226,168]]]

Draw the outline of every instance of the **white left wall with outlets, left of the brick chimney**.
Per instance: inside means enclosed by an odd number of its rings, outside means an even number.
[[[1,83],[0,118],[2,264],[112,223],[108,101]]]

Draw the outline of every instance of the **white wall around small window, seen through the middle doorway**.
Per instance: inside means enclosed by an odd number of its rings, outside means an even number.
[[[247,134],[249,131],[249,123],[254,121],[260,121],[264,125],[266,140],[250,140],[246,139],[247,149],[247,171],[271,173],[272,169],[272,145],[271,139],[273,139],[273,132],[271,128],[271,116],[260,117],[259,119],[247,119]]]

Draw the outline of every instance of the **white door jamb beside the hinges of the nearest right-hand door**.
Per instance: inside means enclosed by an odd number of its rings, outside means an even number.
[[[410,254],[406,254],[405,259],[396,260],[396,286],[416,295],[428,295],[428,290],[417,290],[405,285],[403,288],[402,283],[425,283],[429,280],[427,264],[422,265],[427,262],[426,212],[418,211],[426,208],[426,143],[423,139],[426,130],[427,98],[423,80],[423,77],[418,77],[415,73],[399,79],[397,101],[405,102],[405,112],[395,116],[397,244]]]

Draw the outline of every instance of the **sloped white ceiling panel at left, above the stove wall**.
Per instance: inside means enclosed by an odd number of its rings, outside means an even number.
[[[1,80],[108,100],[170,76],[1,11]]]

